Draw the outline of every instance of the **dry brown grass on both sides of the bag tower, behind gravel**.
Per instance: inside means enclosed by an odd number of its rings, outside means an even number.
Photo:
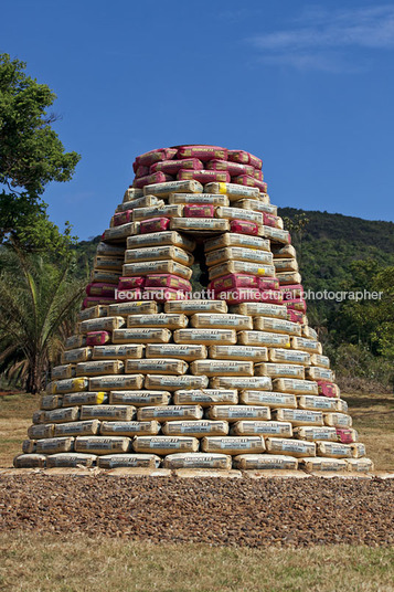
[[[394,397],[393,394],[343,394],[349,403],[360,442],[377,469],[394,469]],[[0,395],[0,467],[12,466],[21,453],[22,441],[31,424],[39,398],[31,394]]]

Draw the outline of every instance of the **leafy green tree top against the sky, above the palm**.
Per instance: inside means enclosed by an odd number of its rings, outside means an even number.
[[[25,66],[0,54],[0,242],[12,237],[28,249],[44,249],[62,234],[41,195],[49,182],[71,180],[81,156],[65,152],[51,127],[57,117],[46,112],[56,95]]]

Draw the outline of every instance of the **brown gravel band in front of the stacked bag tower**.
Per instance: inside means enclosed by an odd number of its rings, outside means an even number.
[[[394,480],[2,476],[0,529],[248,547],[394,545]]]

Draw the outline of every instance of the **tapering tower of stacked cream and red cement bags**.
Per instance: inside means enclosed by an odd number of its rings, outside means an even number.
[[[181,146],[134,170],[14,465],[371,471],[262,160]]]

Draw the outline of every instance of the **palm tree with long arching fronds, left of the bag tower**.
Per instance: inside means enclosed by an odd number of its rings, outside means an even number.
[[[84,283],[61,266],[18,247],[0,254],[0,371],[28,392],[43,389],[72,331]]]

